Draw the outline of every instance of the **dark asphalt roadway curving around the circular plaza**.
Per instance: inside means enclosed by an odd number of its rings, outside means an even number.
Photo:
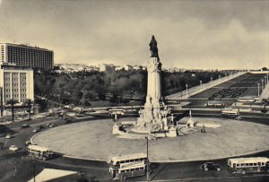
[[[194,111],[193,115],[211,115],[215,114],[212,111]],[[104,116],[102,116],[104,117]],[[257,119],[250,119],[250,122],[259,122]],[[50,122],[55,122],[57,125],[63,125],[61,119],[55,117],[48,117],[39,119],[38,121],[26,121],[30,124],[30,128],[20,128],[18,124],[11,127],[14,131],[12,139],[0,138],[0,142],[5,143],[5,149],[0,151],[0,181],[28,181],[38,174],[41,169],[67,169],[74,171],[83,171],[85,178],[89,181],[111,181],[108,178],[108,164],[105,162],[88,161],[88,160],[74,160],[58,157],[53,160],[32,160],[24,154],[24,143],[30,140],[33,127],[38,125],[45,125]],[[245,120],[242,120],[245,122]],[[262,122],[263,123],[263,122]],[[263,123],[268,125],[268,122]],[[15,144],[21,148],[19,152],[10,152],[7,147]],[[269,152],[257,154],[258,156],[269,156]],[[152,163],[152,173],[150,176],[151,181],[269,181],[268,174],[251,174],[241,176],[233,176],[228,172],[226,167],[227,160],[216,160],[215,162],[221,164],[221,171],[203,171],[199,169],[205,161],[191,161],[191,162],[178,162],[178,163]],[[34,172],[35,171],[35,172]],[[79,176],[73,177],[72,181],[76,181]],[[127,181],[145,181],[145,177],[132,178]],[[66,181],[62,179],[59,181]]]

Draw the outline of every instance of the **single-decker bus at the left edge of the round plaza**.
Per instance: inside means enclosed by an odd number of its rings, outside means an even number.
[[[28,156],[39,160],[48,160],[53,157],[53,152],[50,149],[39,145],[28,145],[26,152]]]

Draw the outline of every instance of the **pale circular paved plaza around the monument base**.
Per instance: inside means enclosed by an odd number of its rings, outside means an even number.
[[[134,120],[135,118],[122,118]],[[203,123],[221,125],[176,138],[149,141],[151,161],[213,160],[269,150],[269,126],[229,119],[194,117]],[[34,143],[67,156],[108,160],[118,154],[146,152],[145,140],[117,138],[112,134],[111,119],[57,126],[37,134]],[[205,125],[206,126],[206,125]]]

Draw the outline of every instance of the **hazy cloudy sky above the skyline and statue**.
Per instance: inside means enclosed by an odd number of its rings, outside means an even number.
[[[0,42],[54,51],[55,64],[269,67],[269,0],[0,0]]]

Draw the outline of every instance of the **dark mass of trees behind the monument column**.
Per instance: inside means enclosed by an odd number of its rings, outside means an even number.
[[[209,72],[184,72],[162,73],[162,92],[169,95],[183,91],[202,82],[210,82],[211,78],[217,79],[224,73],[219,71]],[[147,85],[147,72],[143,70],[100,72],[77,72],[73,74],[35,73],[35,94],[50,99],[60,98],[70,103],[80,104],[82,100],[97,96],[105,100],[106,95],[111,98],[134,96],[145,97]]]

